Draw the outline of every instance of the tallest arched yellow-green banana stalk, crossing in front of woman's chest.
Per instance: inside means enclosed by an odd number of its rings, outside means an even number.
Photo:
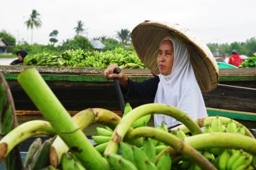
[[[119,143],[123,140],[127,130],[131,127],[131,125],[142,116],[146,116],[147,114],[165,114],[167,116],[171,116],[175,118],[179,122],[182,122],[189,128],[192,134],[201,134],[202,131],[197,124],[183,111],[174,108],[169,105],[164,105],[160,103],[150,103],[141,105],[133,110],[125,118],[119,122],[117,127],[115,128],[113,135],[111,136],[111,140],[108,142],[108,146],[106,147],[105,154],[108,153],[116,153]]]

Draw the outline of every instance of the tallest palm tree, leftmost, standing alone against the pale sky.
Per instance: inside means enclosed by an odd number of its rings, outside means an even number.
[[[28,18],[28,21],[26,21],[24,24],[26,24],[27,28],[31,29],[31,44],[33,42],[33,29],[34,28],[40,28],[42,26],[42,22],[39,18],[40,14],[33,9],[32,13],[30,14],[30,17]]]

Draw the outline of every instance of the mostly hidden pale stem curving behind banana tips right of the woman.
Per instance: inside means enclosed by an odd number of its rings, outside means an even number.
[[[205,119],[195,120],[195,123],[198,124],[199,127],[205,127],[206,125],[211,125],[212,124],[212,120],[214,120],[215,118],[216,118],[216,116],[210,116],[210,117],[207,117]],[[230,121],[230,118],[225,118],[225,117],[220,117],[220,116],[218,118],[222,122],[222,124],[224,124],[224,125],[227,125],[228,122]],[[243,124],[237,122],[236,120],[233,120],[233,122],[236,124],[236,127],[243,126]],[[177,131],[178,128],[183,130],[183,132],[185,132],[185,133],[189,132],[189,129],[184,124],[181,124],[180,126],[172,128],[170,130],[171,131],[172,130],[173,131]],[[247,127],[245,127],[245,135],[246,136],[250,136],[251,138],[254,138],[253,134],[251,134],[250,130]]]

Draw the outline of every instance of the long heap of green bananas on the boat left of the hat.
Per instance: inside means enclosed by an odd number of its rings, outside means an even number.
[[[117,64],[123,69],[146,68],[135,52],[116,48],[106,52],[65,50],[61,55],[42,52],[28,55],[23,65],[55,67],[94,67],[106,69],[108,65]]]

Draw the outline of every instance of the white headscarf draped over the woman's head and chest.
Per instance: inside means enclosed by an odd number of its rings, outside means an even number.
[[[182,42],[173,38],[167,39],[173,43],[174,62],[170,75],[158,75],[160,82],[154,103],[172,105],[189,114],[193,120],[205,118],[207,117],[205,103],[195,79],[189,51]],[[163,120],[168,127],[181,123],[170,116],[154,115],[155,126],[160,126]]]

